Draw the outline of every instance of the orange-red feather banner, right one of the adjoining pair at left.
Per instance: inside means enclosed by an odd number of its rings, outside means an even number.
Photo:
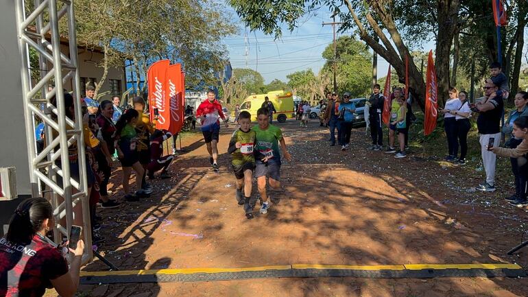
[[[167,70],[167,98],[169,99],[169,132],[176,134],[182,130],[182,65],[173,64]]]

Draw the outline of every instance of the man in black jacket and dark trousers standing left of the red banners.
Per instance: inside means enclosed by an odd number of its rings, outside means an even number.
[[[374,84],[372,87],[372,95],[368,99],[369,113],[368,121],[370,121],[370,137],[372,137],[371,150],[379,151],[383,149],[383,129],[381,124],[381,115],[383,113],[383,104],[385,99],[383,95],[379,93],[381,86]]]

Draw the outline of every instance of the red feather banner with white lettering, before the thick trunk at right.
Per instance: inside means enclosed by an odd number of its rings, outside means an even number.
[[[425,86],[425,121],[424,135],[429,135],[436,128],[438,116],[438,85],[436,80],[435,62],[433,61],[433,51],[429,51],[427,61],[427,82]]]

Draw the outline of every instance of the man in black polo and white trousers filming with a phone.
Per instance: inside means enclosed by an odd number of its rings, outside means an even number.
[[[496,93],[496,95],[492,95]],[[478,185],[479,191],[495,191],[495,167],[496,155],[491,151],[492,147],[498,147],[501,143],[501,117],[504,102],[503,93],[491,80],[486,80],[484,85],[484,97],[478,98],[472,110],[479,112],[477,128],[479,129],[482,163],[486,173],[485,182]]]

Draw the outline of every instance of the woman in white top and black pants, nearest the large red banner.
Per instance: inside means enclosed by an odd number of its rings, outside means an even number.
[[[451,114],[452,110],[458,110],[461,102],[458,99],[456,88],[449,88],[449,99],[446,101],[444,109],[440,110],[444,114],[444,129],[446,130],[448,155],[445,160],[449,162],[457,161],[458,140],[457,140],[457,121],[455,115]]]

